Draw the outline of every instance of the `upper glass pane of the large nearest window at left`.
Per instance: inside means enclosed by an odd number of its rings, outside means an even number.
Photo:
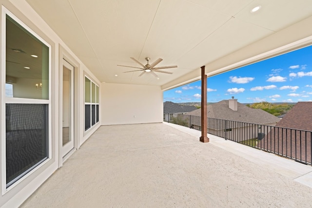
[[[48,46],[7,16],[6,83],[13,97],[48,99],[48,54]]]

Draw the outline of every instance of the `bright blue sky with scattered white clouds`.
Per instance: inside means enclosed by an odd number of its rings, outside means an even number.
[[[164,102],[200,102],[201,81],[163,94]],[[207,102],[234,96],[240,103],[312,101],[312,46],[208,77]]]

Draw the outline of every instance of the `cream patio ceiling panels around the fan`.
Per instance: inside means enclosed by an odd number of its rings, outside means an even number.
[[[101,82],[160,86],[312,16],[311,0],[26,1]],[[139,67],[130,57],[178,68],[138,77],[117,66]]]

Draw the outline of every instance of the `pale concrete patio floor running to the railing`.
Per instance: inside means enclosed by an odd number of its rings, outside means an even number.
[[[101,126],[22,208],[312,207],[312,167],[174,124]]]

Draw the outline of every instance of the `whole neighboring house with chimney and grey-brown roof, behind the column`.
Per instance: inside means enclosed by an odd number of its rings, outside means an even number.
[[[201,116],[201,109],[186,115]],[[221,100],[207,106],[208,132],[215,135],[240,137],[244,139],[257,138],[258,132],[265,132],[261,125],[275,126],[280,118],[261,109],[253,109],[237,102],[237,99]],[[218,119],[218,120],[217,120]],[[190,120],[191,128],[200,130],[200,119]]]

